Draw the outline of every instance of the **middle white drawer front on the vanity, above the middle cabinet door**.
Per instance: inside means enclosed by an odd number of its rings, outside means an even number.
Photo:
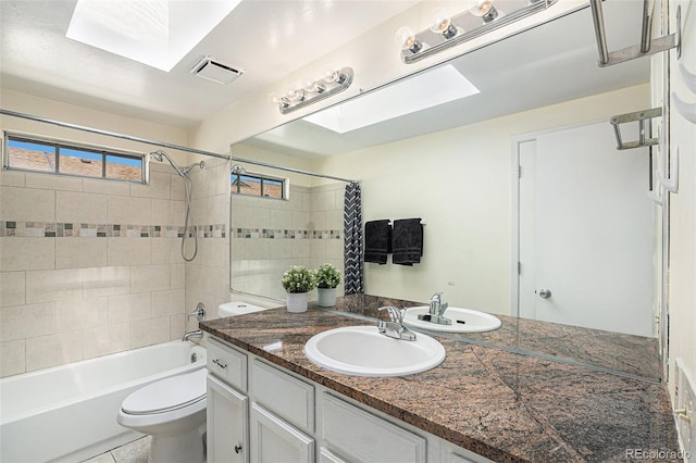
[[[251,362],[253,399],[307,433],[314,431],[314,386],[258,360]]]

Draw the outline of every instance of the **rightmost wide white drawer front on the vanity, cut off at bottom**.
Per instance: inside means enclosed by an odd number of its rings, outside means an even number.
[[[424,437],[327,393],[322,410],[322,437],[341,455],[364,463],[425,462]]]

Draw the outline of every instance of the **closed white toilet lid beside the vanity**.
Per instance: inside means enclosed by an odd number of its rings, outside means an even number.
[[[206,398],[207,368],[151,383],[121,404],[125,413],[144,415],[182,409]]]

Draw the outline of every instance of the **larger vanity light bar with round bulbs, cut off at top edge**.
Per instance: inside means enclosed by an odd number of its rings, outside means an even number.
[[[432,14],[431,26],[414,34],[408,27],[400,27],[395,36],[401,47],[401,61],[415,63],[442,50],[458,46],[490,30],[514,23],[538,13],[558,0],[506,0],[505,12],[495,5],[495,0],[473,0],[471,7],[453,16],[444,9]]]

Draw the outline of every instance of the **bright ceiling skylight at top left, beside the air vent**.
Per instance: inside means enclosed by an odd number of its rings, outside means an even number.
[[[66,37],[171,71],[241,0],[78,0]]]

